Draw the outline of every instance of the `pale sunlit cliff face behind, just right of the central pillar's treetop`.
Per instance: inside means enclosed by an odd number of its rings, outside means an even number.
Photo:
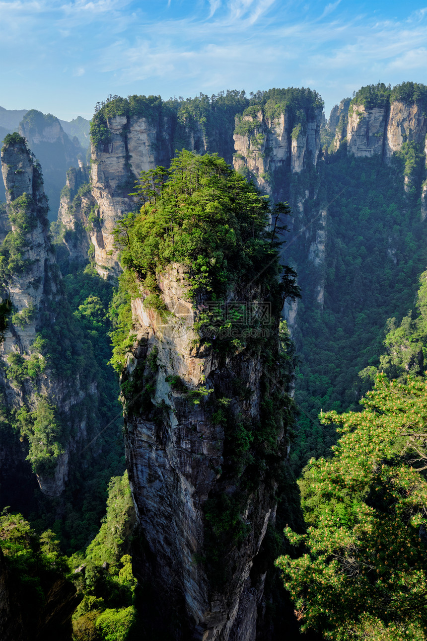
[[[302,122],[284,110],[270,118],[264,110],[236,118],[233,165],[249,171],[259,188],[271,194],[271,181],[277,170],[300,173],[308,164],[316,166],[320,151],[322,110],[307,111]]]

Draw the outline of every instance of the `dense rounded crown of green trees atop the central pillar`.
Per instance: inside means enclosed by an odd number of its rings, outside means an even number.
[[[261,260],[275,254],[263,237],[268,205],[215,156],[182,151],[156,207],[144,207],[127,237],[115,231],[122,265],[140,280],[176,261],[187,267],[194,295],[221,297],[243,274],[256,278]]]

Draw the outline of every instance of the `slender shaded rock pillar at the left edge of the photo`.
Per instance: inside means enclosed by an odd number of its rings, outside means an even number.
[[[12,487],[13,470],[19,473],[30,460],[42,492],[58,496],[68,479],[70,458],[90,431],[90,410],[82,403],[92,397],[95,405],[97,390],[92,379],[81,381],[77,365],[74,376],[58,369],[67,363],[67,350],[72,358],[72,350],[79,347],[72,320],[63,320],[69,312],[49,238],[40,167],[17,135],[3,147],[1,162],[10,232],[0,247],[0,288],[12,310],[1,346],[0,392],[5,429],[15,425],[2,439],[5,460],[10,449],[15,461],[12,467],[4,466],[3,474]],[[61,337],[64,354],[55,363],[50,353],[58,351],[58,324],[68,335]],[[15,442],[19,431],[20,444]],[[15,460],[19,452],[21,465]]]

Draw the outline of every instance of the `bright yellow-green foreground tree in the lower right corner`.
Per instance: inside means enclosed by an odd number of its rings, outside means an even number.
[[[426,636],[427,385],[378,375],[362,412],[328,412],[342,433],[300,481],[303,555],[278,558],[303,630],[326,638]],[[423,534],[424,533],[424,534]]]

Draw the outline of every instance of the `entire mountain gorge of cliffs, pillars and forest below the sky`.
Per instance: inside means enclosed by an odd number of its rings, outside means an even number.
[[[2,638],[423,641],[427,87],[3,112]]]

